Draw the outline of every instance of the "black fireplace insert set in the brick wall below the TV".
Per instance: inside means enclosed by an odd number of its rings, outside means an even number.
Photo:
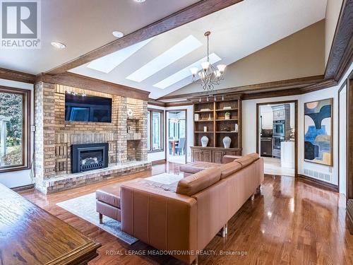
[[[108,143],[73,144],[71,172],[84,172],[108,166]]]

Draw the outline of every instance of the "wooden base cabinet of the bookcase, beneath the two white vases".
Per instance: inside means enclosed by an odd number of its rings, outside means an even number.
[[[241,155],[241,148],[212,148],[191,146],[193,162],[222,163],[224,155]]]

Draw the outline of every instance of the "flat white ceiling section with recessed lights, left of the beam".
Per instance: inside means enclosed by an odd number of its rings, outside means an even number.
[[[42,0],[41,49],[0,49],[0,67],[42,73],[169,16],[199,0]],[[63,42],[58,50],[50,42]]]

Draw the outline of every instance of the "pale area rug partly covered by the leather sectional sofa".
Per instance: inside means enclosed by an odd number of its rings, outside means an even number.
[[[172,184],[173,182],[179,181],[181,178],[183,178],[181,175],[162,173],[160,175],[148,177],[147,179],[163,184]],[[56,205],[64,208],[66,211],[69,211],[70,213],[73,213],[80,218],[83,218],[84,220],[87,220],[93,225],[97,225],[99,228],[102,228],[102,230],[109,232],[109,234],[118,237],[120,240],[123,240],[129,245],[132,245],[138,241],[137,238],[121,231],[121,223],[117,220],[104,216],[104,223],[100,224],[98,213],[95,211],[95,201],[95,192],[93,192],[74,199],[69,199],[67,201],[61,201]]]

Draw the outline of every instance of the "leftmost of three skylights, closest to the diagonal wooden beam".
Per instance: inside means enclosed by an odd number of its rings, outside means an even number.
[[[112,71],[116,66],[128,59],[128,57],[131,57],[132,54],[147,45],[152,39],[153,37],[128,46],[124,49],[119,49],[119,51],[113,52],[99,59],[95,59],[94,61],[91,61],[87,67],[103,73],[110,73],[110,71]]]

